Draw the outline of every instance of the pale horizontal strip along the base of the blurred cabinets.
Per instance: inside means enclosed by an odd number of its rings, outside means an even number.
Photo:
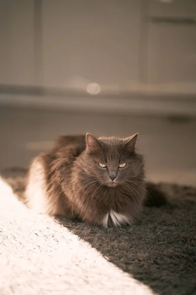
[[[138,99],[137,97],[48,96],[0,94],[0,106],[75,113],[139,116],[189,116],[196,119],[195,101]]]

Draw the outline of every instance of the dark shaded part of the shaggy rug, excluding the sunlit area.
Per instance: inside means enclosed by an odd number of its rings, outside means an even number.
[[[25,170],[1,173],[21,198]],[[145,207],[140,221],[121,229],[103,229],[56,218],[102,256],[160,295],[196,292],[196,188],[158,184],[169,204]]]

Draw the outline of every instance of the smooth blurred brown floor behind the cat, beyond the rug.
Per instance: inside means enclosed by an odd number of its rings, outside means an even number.
[[[0,169],[26,167],[62,134],[130,136],[139,132],[147,178],[196,185],[196,120],[130,115],[76,114],[25,108],[0,108]]]

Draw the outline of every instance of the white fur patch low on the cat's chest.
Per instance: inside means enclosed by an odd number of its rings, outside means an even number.
[[[130,224],[130,219],[123,213],[116,212],[114,209],[110,209],[108,213],[103,217],[102,224],[104,227],[121,227],[125,224]]]

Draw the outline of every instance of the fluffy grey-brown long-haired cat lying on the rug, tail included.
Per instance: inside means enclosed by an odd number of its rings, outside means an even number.
[[[137,137],[138,133],[125,139],[90,133],[59,137],[49,152],[30,164],[26,205],[106,228],[130,225],[143,205],[165,204],[164,194],[153,184],[147,191]]]

